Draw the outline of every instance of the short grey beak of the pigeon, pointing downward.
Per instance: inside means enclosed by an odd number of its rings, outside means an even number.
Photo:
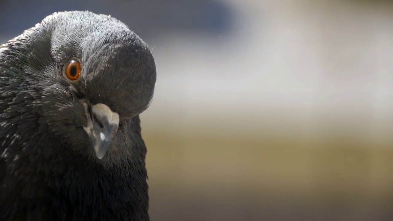
[[[107,105],[98,103],[90,106],[83,103],[87,119],[84,131],[90,136],[97,158],[102,159],[112,143],[112,138],[119,128],[119,114]]]

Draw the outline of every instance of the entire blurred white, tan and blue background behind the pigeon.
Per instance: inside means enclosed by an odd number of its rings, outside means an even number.
[[[392,220],[393,2],[3,0],[0,42],[66,10],[154,53],[152,221]]]

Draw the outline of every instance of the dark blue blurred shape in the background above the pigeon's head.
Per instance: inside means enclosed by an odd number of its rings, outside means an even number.
[[[0,3],[1,35],[19,35],[53,12],[71,10],[112,15],[145,40],[176,30],[223,35],[233,22],[232,9],[217,0],[6,0]]]

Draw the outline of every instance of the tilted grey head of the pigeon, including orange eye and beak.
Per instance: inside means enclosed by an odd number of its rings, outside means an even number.
[[[55,13],[23,36],[23,45],[2,49],[20,79],[20,105],[74,151],[95,159],[122,154],[127,125],[154,92],[147,44],[119,20],[87,11]]]

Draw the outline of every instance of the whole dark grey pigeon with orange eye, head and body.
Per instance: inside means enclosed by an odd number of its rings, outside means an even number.
[[[120,20],[52,13],[0,46],[0,221],[149,221],[140,114],[149,46]]]

